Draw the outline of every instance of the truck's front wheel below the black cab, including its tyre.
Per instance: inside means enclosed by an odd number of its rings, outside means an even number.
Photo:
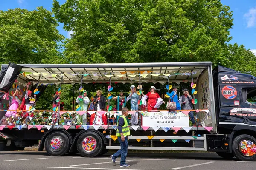
[[[256,161],[256,139],[250,135],[236,136],[232,151],[240,161]]]

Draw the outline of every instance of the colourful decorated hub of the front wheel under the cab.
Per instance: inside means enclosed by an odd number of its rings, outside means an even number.
[[[243,140],[239,144],[240,151],[244,156],[250,157],[256,153],[256,145],[250,140]]]

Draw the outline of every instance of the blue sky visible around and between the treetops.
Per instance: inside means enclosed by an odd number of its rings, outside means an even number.
[[[58,0],[60,4],[66,0]],[[221,0],[223,5],[230,6],[233,11],[233,28],[230,34],[233,39],[230,43],[244,45],[256,54],[256,0]],[[51,10],[52,0],[0,0],[0,10],[6,11],[14,8],[25,8],[29,11],[37,6],[43,6]],[[70,32],[63,30],[63,24],[60,23],[58,30],[65,37],[70,37]]]

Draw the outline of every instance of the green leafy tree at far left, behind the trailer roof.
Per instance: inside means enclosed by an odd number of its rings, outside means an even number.
[[[0,64],[63,62],[58,43],[64,36],[57,26],[52,13],[42,7],[0,11]]]

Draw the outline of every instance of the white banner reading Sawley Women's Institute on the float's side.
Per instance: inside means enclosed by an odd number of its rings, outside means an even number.
[[[142,118],[142,125],[151,127],[189,127],[189,116],[181,112],[177,114],[147,112]]]

